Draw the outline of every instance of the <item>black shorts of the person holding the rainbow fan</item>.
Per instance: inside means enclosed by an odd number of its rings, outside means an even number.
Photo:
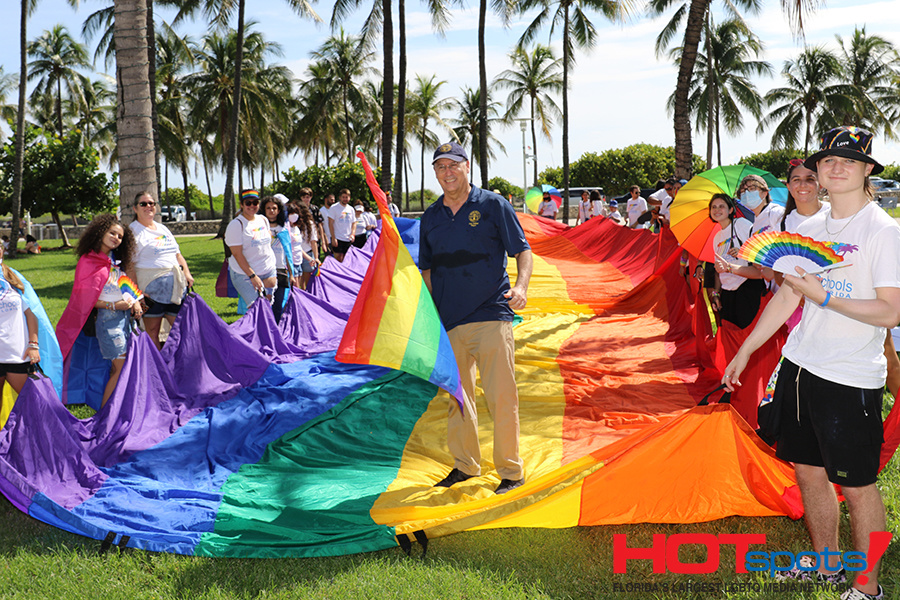
[[[784,359],[775,384],[775,400],[781,401],[775,455],[825,467],[828,480],[838,485],[875,483],[884,443],[882,392],[822,379]]]

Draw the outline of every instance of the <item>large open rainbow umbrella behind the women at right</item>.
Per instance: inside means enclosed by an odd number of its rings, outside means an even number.
[[[709,218],[709,200],[714,194],[722,193],[734,197],[747,175],[759,175],[766,181],[773,202],[782,206],[787,202],[785,185],[768,171],[756,167],[727,165],[695,175],[678,191],[669,209],[672,233],[685,250],[700,260],[715,260],[712,238],[719,226]],[[738,210],[741,216],[753,220],[753,212],[740,202]]]

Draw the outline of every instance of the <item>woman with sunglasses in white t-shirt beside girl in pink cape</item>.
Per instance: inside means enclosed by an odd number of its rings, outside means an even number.
[[[163,317],[169,325],[181,310],[181,301],[187,288],[194,285],[194,277],[181,255],[181,249],[169,228],[153,220],[157,203],[153,197],[142,192],[134,198],[134,214],[137,220],[128,228],[134,234],[135,257],[132,279],[144,292],[144,330],[157,348],[159,329]]]

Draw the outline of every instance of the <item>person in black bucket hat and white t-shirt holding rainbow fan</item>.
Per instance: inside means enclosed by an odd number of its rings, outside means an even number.
[[[869,557],[872,540],[890,539],[875,482],[884,442],[884,339],[887,328],[900,322],[900,225],[872,202],[869,175],[883,170],[871,156],[872,137],[857,127],[832,129],[804,163],[828,189],[831,207],[800,224],[797,233],[841,253],[849,266],[821,276],[799,267],[796,275],[785,274],[785,285],[722,378],[729,391],[740,386],[753,352],[805,299],[800,323],[782,350],[774,391],[782,408],[776,455],[794,463],[817,558],[802,557],[785,578],[830,584],[850,579],[840,563],[834,484],[847,500],[854,550]],[[869,561],[871,570],[857,572],[842,599],[884,597],[880,554]]]

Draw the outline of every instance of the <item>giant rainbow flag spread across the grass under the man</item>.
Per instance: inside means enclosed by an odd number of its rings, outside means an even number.
[[[162,352],[133,338],[94,417],[76,419],[49,380],[30,380],[0,431],[0,491],[68,531],[205,556],[347,554],[473,528],[798,517],[790,467],[731,406],[697,406],[718,373],[674,238],[602,218],[574,229],[521,219],[535,252],[515,329],[523,487],[495,496],[488,459],[482,477],[432,487],[452,464],[455,400],[334,360],[373,236],[343,263],[326,260],[279,325],[260,303],[226,325],[189,298]],[[417,223],[397,225],[415,256]],[[488,446],[490,419],[479,421]]]

